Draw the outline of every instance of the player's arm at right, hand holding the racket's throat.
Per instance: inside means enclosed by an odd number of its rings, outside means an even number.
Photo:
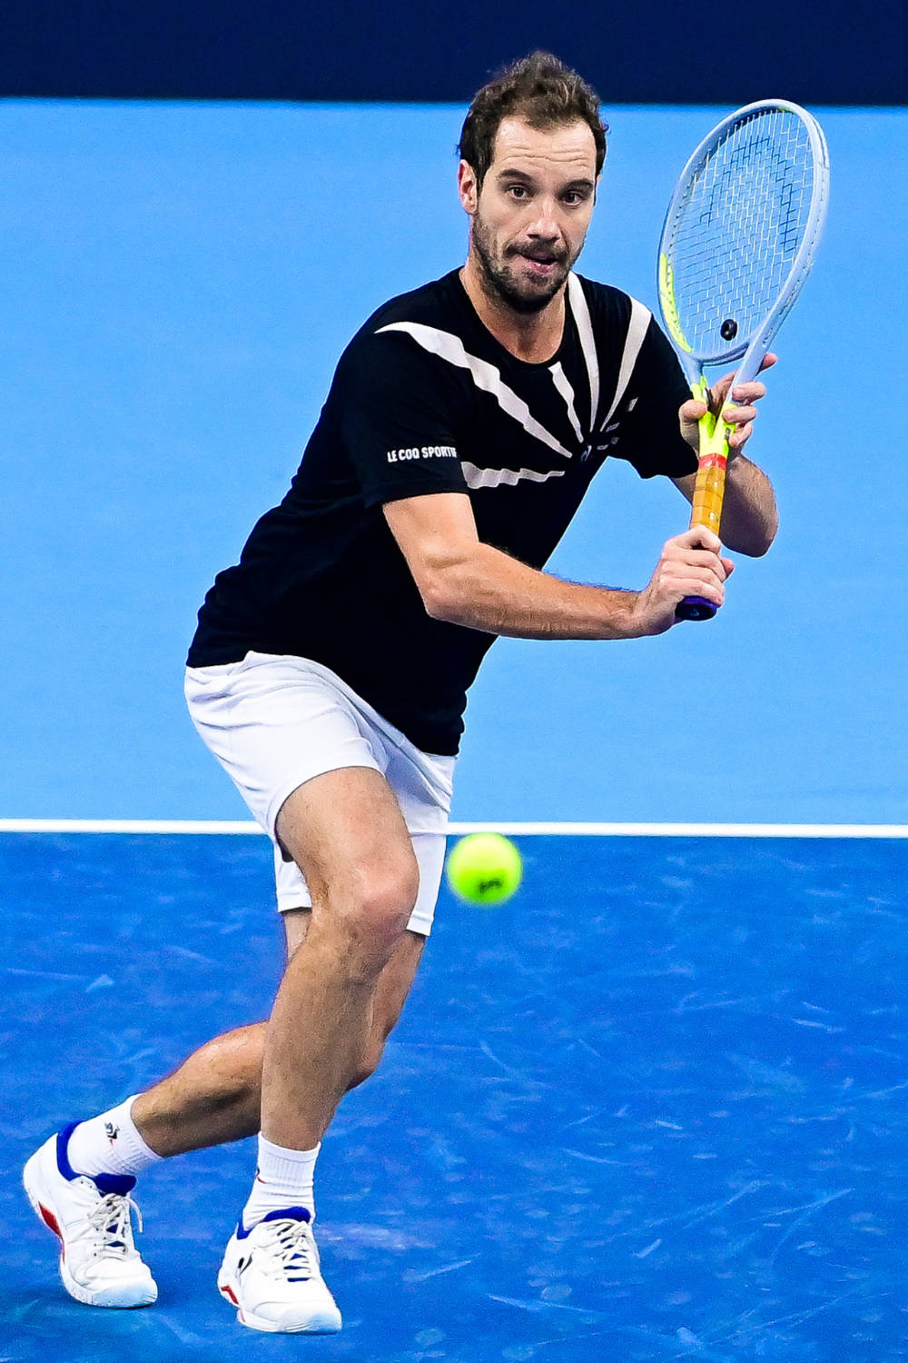
[[[775,354],[768,354],[761,368],[768,369],[775,363]],[[731,379],[732,375],[726,375],[712,388],[713,412],[720,410],[721,403],[727,399]],[[757,417],[754,402],[758,402],[765,393],[766,387],[760,380],[742,383],[732,394],[738,405],[726,412],[726,417],[735,427],[735,431],[728,439],[721,540],[730,549],[754,557],[766,552],[779,529],[779,511],[772,484],[762,469],[742,454]],[[697,420],[705,410],[702,402],[694,402],[693,398],[681,408],[681,431],[694,451],[698,448]],[[696,473],[674,478],[675,487],[683,492],[687,502],[693,502],[696,483]]]

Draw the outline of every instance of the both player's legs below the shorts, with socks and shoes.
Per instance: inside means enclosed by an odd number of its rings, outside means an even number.
[[[290,936],[287,973],[264,1039],[264,1025],[257,1025],[208,1043],[148,1094],[71,1123],[26,1164],[26,1191],[63,1239],[61,1273],[78,1300],[112,1307],[155,1300],[154,1278],[132,1247],[128,1224],[133,1175],[165,1154],[252,1134],[259,1086],[265,1116],[270,1109],[274,1055],[276,1139],[259,1137],[260,1176],[225,1251],[218,1288],[255,1329],[340,1328],[312,1238],[312,1174],[336,1103],[377,1065],[412,983],[423,939],[406,924],[419,871],[396,800],[372,769],[313,778],[290,797],[282,819],[285,845],[313,890],[313,910],[297,916],[309,925]],[[297,972],[301,960],[306,965]],[[132,1115],[136,1107],[144,1134]],[[314,1146],[290,1144],[312,1130],[319,1131]],[[157,1135],[161,1153],[144,1135]],[[105,1198],[113,1210],[102,1223]],[[118,1240],[108,1243],[114,1210]]]

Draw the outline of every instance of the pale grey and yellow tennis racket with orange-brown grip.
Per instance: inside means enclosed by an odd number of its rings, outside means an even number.
[[[813,264],[828,196],[822,129],[787,99],[730,114],[681,172],[659,245],[659,303],[700,402],[709,406],[707,365],[741,360],[731,388],[758,373]],[[719,534],[732,429],[721,413],[700,418],[692,527]],[[675,611],[679,620],[715,613],[702,597]]]

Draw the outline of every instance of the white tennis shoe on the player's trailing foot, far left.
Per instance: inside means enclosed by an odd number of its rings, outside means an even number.
[[[37,1150],[22,1182],[33,1208],[60,1238],[60,1277],[86,1306],[151,1306],[158,1287],[132,1240],[133,1178],[76,1174],[67,1157],[72,1122]]]

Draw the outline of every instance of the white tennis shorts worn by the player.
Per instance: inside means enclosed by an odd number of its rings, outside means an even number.
[[[282,804],[325,771],[372,767],[398,797],[419,864],[407,925],[429,935],[455,758],[422,752],[329,668],[308,658],[246,653],[242,662],[187,668],[185,694],[192,722],[274,842],[280,912],[312,904],[302,872],[278,846]]]

